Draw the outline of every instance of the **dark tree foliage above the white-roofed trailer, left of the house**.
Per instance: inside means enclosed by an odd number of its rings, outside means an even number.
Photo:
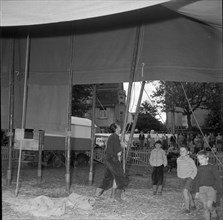
[[[90,85],[74,85],[72,88],[72,115],[84,117],[89,109],[89,100],[92,97]]]

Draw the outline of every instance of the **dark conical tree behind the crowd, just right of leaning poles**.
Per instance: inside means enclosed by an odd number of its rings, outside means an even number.
[[[163,130],[163,124],[156,119],[158,115],[156,107],[152,106],[147,100],[141,104],[141,109],[138,115],[136,128],[141,131],[148,132],[150,130]]]

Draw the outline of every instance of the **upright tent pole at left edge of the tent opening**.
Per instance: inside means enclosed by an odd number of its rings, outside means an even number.
[[[66,191],[70,192],[70,148],[71,148],[71,116],[72,116],[72,88],[73,88],[73,35],[71,35],[71,52],[70,52],[70,72],[69,72],[69,88],[68,88],[68,106],[67,106],[67,135],[65,140],[66,155]]]

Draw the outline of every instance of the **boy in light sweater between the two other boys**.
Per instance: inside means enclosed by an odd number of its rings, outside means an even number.
[[[190,213],[195,209],[194,200],[191,196],[193,180],[197,175],[197,167],[194,160],[189,156],[189,148],[181,146],[180,157],[177,158],[177,176],[180,178],[183,187],[183,196],[185,201],[184,214]]]

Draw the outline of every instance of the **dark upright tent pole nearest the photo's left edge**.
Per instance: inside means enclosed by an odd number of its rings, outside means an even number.
[[[9,80],[9,130],[7,136],[9,137],[8,148],[8,169],[7,169],[7,185],[11,185],[12,179],[12,144],[13,144],[13,113],[14,113],[14,57],[15,57],[15,39],[12,39],[11,44],[11,74]]]

